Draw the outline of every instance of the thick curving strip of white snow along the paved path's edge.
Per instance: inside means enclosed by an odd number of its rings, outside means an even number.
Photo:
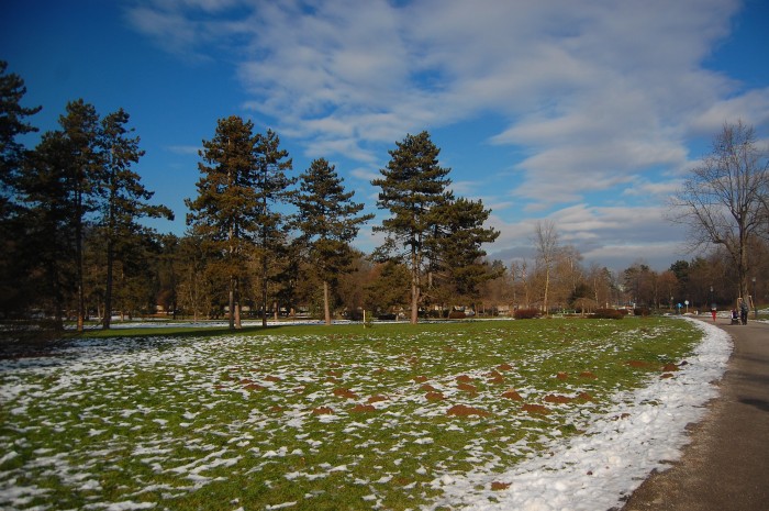
[[[688,320],[703,340],[675,378],[653,378],[647,387],[622,392],[584,435],[555,443],[544,455],[502,474],[482,467],[464,477],[434,481],[444,496],[430,509],[475,511],[597,511],[621,508],[654,469],[665,469],[689,442],[686,426],[700,421],[726,370],[732,340],[723,330]],[[492,491],[492,481],[510,484]],[[478,488],[483,488],[478,490]]]

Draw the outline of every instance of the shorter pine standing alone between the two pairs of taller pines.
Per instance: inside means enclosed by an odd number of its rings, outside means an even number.
[[[313,160],[300,179],[297,225],[323,281],[324,319],[331,324],[328,286],[350,266],[349,242],[374,215],[358,215],[364,204],[352,201],[355,191],[345,191],[344,180],[324,158]]]

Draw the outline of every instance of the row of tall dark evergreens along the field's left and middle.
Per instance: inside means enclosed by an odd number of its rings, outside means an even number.
[[[123,110],[100,115],[71,101],[59,127],[33,148],[22,135],[37,108],[25,108],[24,82],[0,63],[2,114],[2,258],[0,314],[74,319],[110,327],[112,314],[159,311],[192,318],[268,315],[319,308],[327,323],[339,307],[392,310],[408,297],[416,321],[428,303],[464,303],[494,277],[481,248],[499,235],[490,211],[455,198],[449,169],[426,132],[408,135],[374,181],[389,216],[375,230],[386,242],[370,257],[352,248],[372,219],[353,201],[324,158],[292,176],[278,135],[250,121],[221,119],[200,151],[198,195],[188,232],[159,234],[146,218],[172,218],[133,167],[143,156]],[[368,265],[368,266],[367,266]],[[377,274],[360,286],[353,276]]]

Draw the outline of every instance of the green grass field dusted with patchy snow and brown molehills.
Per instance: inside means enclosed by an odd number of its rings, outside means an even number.
[[[701,336],[634,318],[131,333],[0,362],[0,508],[417,509],[581,434]]]

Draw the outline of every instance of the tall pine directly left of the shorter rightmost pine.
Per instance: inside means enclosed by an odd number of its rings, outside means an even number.
[[[422,293],[422,274],[425,259],[424,242],[433,230],[435,208],[452,200],[447,191],[448,168],[438,165],[438,149],[427,132],[406,135],[397,148],[390,151],[382,178],[371,185],[381,187],[377,204],[390,211],[391,216],[375,226],[375,232],[387,233],[378,254],[405,260],[411,271],[411,322],[417,322]],[[402,248],[406,252],[402,252]]]

